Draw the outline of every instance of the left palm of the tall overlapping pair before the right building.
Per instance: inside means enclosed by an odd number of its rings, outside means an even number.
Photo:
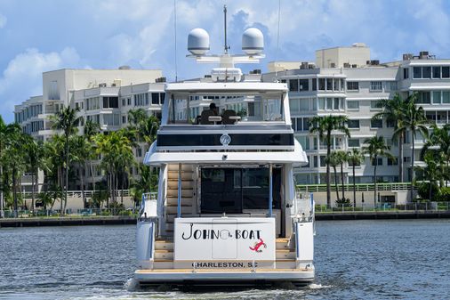
[[[387,123],[394,125],[394,135],[392,141],[398,141],[398,179],[403,182],[403,144],[404,136],[406,134],[406,127],[403,126],[405,118],[406,106],[409,100],[403,100],[402,97],[395,93],[392,99],[381,99],[377,107],[383,109],[378,112],[372,119],[386,119]]]

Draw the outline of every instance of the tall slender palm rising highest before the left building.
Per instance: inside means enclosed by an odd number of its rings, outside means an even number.
[[[58,129],[62,131],[62,134],[64,135],[64,145],[66,149],[65,158],[66,158],[66,166],[65,166],[65,176],[66,176],[66,182],[64,184],[64,210],[66,208],[67,202],[68,202],[68,168],[69,168],[69,161],[68,161],[68,155],[69,155],[69,137],[73,134],[76,134],[76,126],[78,126],[78,122],[80,120],[80,117],[76,116],[76,112],[78,109],[72,109],[70,106],[61,109],[56,115],[52,116],[52,128]],[[63,211],[61,211],[61,215],[64,214]]]

